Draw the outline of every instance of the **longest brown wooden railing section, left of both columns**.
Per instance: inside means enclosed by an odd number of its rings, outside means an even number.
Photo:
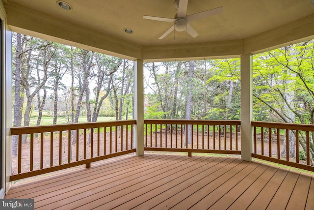
[[[83,164],[90,167],[91,162],[134,152],[135,124],[136,120],[125,120],[12,127],[18,152],[12,158],[10,180]]]

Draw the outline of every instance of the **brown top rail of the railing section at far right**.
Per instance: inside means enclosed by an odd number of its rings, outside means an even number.
[[[279,128],[279,129],[289,129],[289,130],[314,131],[314,125],[312,125],[312,124],[296,124],[296,123],[283,123],[283,122],[252,121],[251,125],[255,126],[255,127],[267,127],[267,128]]]

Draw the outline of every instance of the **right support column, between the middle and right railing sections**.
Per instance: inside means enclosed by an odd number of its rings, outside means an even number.
[[[252,161],[252,55],[241,56],[241,158]]]

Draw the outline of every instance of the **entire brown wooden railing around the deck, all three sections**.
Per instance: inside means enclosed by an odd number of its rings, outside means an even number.
[[[135,124],[136,120],[125,120],[12,127],[18,152],[12,158],[10,180],[83,164],[90,167],[91,162],[135,152]],[[252,128],[252,157],[314,171],[314,125],[253,121]],[[291,135],[299,144],[289,145]],[[287,155],[282,153],[283,145]],[[295,157],[290,157],[291,147]],[[187,152],[189,156],[192,152],[241,154],[240,121],[144,120],[144,150]]]

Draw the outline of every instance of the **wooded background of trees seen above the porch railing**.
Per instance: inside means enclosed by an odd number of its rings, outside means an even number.
[[[131,118],[133,61],[18,33],[12,38],[13,126]],[[253,120],[314,124],[313,54],[309,40],[254,55]],[[239,59],[145,63],[144,69],[145,119],[240,120]],[[304,136],[299,142],[305,148]]]

